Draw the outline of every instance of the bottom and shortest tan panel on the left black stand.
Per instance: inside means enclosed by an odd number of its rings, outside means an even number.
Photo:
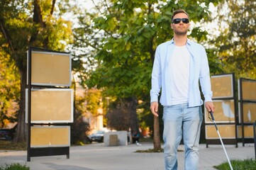
[[[69,147],[69,126],[31,127],[30,147]]]

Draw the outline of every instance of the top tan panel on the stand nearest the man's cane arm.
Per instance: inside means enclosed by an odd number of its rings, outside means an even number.
[[[232,98],[233,74],[216,75],[211,77],[213,98]]]

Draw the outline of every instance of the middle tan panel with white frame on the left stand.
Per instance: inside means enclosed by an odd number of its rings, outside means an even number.
[[[30,112],[31,123],[72,123],[72,89],[32,89]]]

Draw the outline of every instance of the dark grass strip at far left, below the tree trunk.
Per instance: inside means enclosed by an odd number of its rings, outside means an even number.
[[[8,140],[0,140],[0,150],[26,150],[26,149],[27,149],[26,143],[15,143]]]

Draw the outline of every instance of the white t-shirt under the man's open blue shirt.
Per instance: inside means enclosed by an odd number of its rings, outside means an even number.
[[[187,47],[175,46],[169,60],[172,103],[174,105],[189,102],[189,62]]]

